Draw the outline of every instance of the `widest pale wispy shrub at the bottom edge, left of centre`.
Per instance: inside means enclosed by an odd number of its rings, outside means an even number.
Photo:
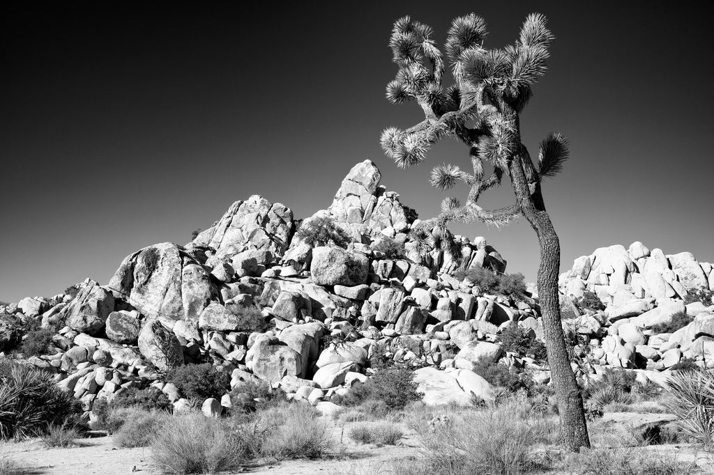
[[[166,474],[237,471],[253,456],[255,435],[198,412],[166,419],[151,441],[151,459]]]

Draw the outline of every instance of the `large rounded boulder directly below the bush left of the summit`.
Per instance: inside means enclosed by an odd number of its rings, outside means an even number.
[[[318,285],[361,285],[367,282],[369,260],[340,247],[315,247],[310,270]]]

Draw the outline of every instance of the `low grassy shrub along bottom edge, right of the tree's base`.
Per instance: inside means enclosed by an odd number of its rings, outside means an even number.
[[[562,467],[582,475],[685,475],[693,473],[695,462],[679,461],[674,455],[658,456],[633,449],[582,449],[568,454]]]

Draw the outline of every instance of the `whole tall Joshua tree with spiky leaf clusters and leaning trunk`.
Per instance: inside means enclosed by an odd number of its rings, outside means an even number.
[[[531,86],[543,76],[548,46],[554,36],[545,26],[545,16],[531,14],[521,27],[515,44],[486,49],[486,22],[475,14],[453,20],[446,39],[453,84],[444,87],[446,70],[441,51],[430,39],[432,29],[408,16],[395,22],[389,46],[398,66],[396,78],[387,85],[387,99],[401,104],[416,101],[424,120],[404,131],[387,128],[381,136],[386,155],[398,167],[421,163],[433,143],[453,137],[468,147],[470,173],[458,165],[438,165],[431,172],[431,185],[448,190],[468,186],[466,201],[446,198],[436,218],[421,223],[421,230],[443,229],[451,221],[481,221],[505,225],[519,215],[531,224],[540,244],[538,295],[545,327],[548,363],[558,396],[563,444],[572,450],[589,446],[583,413],[583,398],[570,367],[560,325],[558,267],[560,242],[543,203],[541,183],[563,168],[568,142],[560,133],[550,133],[540,143],[536,168],[521,143],[519,114],[531,98]],[[484,165],[491,168],[486,175]],[[484,210],[478,198],[511,180],[515,203],[498,210]],[[418,231],[417,233],[418,234]]]

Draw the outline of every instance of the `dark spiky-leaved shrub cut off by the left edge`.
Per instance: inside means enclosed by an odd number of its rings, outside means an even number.
[[[35,367],[0,362],[0,439],[41,434],[81,414],[72,394]]]

